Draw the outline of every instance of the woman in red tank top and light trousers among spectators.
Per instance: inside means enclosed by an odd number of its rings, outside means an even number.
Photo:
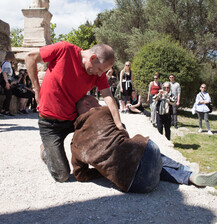
[[[153,101],[153,97],[159,93],[159,90],[162,89],[161,82],[158,81],[159,74],[158,72],[154,75],[154,81],[150,82],[149,90],[148,90],[148,98],[147,102],[150,103],[150,110],[151,110],[151,122],[154,127],[157,127],[157,111],[156,105],[157,102]]]

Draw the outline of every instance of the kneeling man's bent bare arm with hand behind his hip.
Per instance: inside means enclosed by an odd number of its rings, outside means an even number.
[[[35,99],[36,99],[37,104],[39,101],[39,92],[40,92],[37,63],[41,62],[41,61],[42,61],[42,58],[41,58],[39,49],[29,52],[25,57],[26,68],[27,68],[29,77],[33,84],[33,88],[35,91]]]

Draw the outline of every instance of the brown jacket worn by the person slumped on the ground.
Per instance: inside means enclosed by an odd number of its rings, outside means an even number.
[[[116,127],[108,107],[92,108],[75,122],[71,145],[74,177],[89,181],[102,175],[127,192],[148,139],[141,135],[125,137]],[[95,169],[90,169],[89,164]]]

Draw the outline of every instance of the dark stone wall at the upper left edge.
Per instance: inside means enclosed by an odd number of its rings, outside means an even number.
[[[10,26],[0,20],[0,62],[5,58],[6,51],[11,50]]]

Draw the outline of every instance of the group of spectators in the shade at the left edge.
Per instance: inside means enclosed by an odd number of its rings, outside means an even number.
[[[37,104],[32,83],[26,69],[20,69],[19,74],[14,71],[15,57],[13,52],[7,52],[5,60],[2,62],[0,86],[2,93],[5,95],[0,113],[6,116],[13,116],[10,112],[10,103],[12,95],[19,98],[19,114],[27,114],[29,110],[37,112]]]

